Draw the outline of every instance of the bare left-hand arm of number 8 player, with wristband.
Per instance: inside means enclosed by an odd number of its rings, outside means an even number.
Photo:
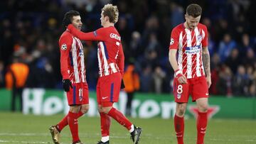
[[[176,49],[169,50],[169,62],[171,63],[171,67],[173,67],[174,72],[178,72],[178,74],[181,74],[181,77],[178,77],[178,82],[180,84],[186,84],[187,83],[186,77],[182,74],[182,72],[179,73],[179,70],[178,70],[178,63],[176,60],[176,52],[177,52]],[[177,74],[176,74],[176,77],[177,77]]]

